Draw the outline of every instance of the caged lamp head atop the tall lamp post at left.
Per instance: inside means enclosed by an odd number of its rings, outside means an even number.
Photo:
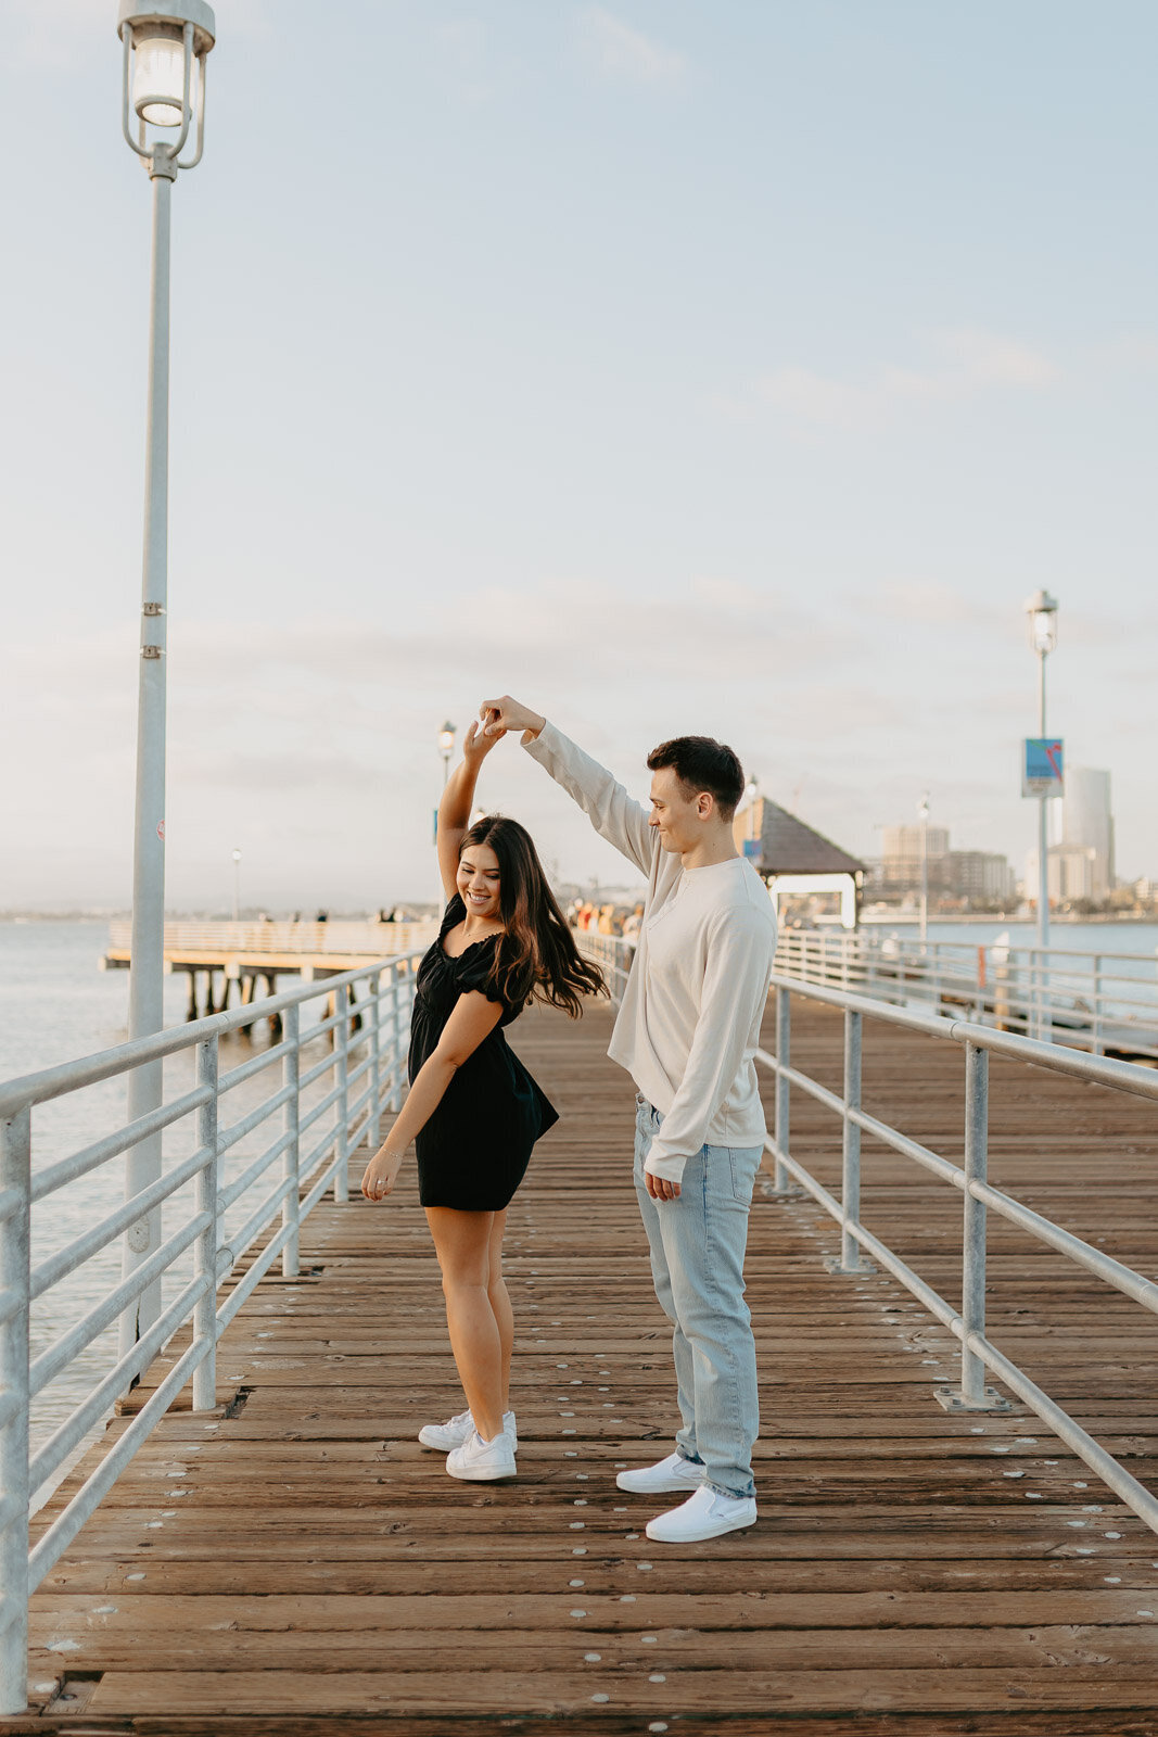
[[[205,139],[205,57],[217,38],[212,7],[205,0],[160,0],[156,5],[148,0],[122,0],[116,35],[125,45],[127,142],[149,160],[153,170],[158,163],[175,163],[189,135],[196,85],[196,155],[189,163],[181,163],[182,168],[193,168],[201,160]],[[137,116],[139,141],[130,132],[130,111]],[[175,144],[146,149],[146,122],[151,127],[179,127]]]

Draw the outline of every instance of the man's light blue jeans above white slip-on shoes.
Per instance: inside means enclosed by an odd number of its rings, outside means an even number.
[[[748,1209],[762,1146],[701,1146],[677,1200],[653,1200],[644,1164],[663,1117],[635,1113],[635,1195],[651,1247],[656,1298],[672,1322],[682,1428],[675,1449],[705,1468],[720,1496],[755,1496],[752,1445],[760,1431],[755,1341],[743,1299]]]

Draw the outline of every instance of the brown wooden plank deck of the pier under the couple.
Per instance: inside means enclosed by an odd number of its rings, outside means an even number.
[[[839,1016],[795,1006],[793,1061],[835,1077]],[[828,1275],[804,1199],[752,1212],[760,1520],[646,1539],[615,1470],[668,1450],[674,1384],[608,1030],[516,1028],[564,1112],[510,1211],[517,1482],[455,1483],[415,1442],[460,1398],[413,1176],[325,1205],[309,1277],[227,1331],[220,1412],[170,1412],[36,1595],[45,1687],[5,1730],[1158,1734],[1158,1537],[1024,1407],[941,1410],[950,1336],[887,1275]],[[870,1027],[865,1093],[960,1152],[957,1046]],[[991,1103],[993,1179],[1158,1270],[1153,1110],[1009,1063]],[[839,1129],[797,1096],[793,1150],[839,1178]],[[953,1296],[958,1197],[866,1143],[863,1202]],[[997,1223],[991,1247],[997,1343],[1158,1485],[1153,1320]]]

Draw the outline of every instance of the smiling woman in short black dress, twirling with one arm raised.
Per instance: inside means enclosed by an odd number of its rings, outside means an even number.
[[[446,1296],[446,1324],[467,1410],[418,1433],[450,1449],[453,1478],[512,1478],[516,1419],[509,1409],[514,1317],[502,1277],[507,1205],[531,1146],[559,1120],[503,1027],[530,1001],[578,1018],[580,997],[606,994],[547,886],[530,834],[502,815],[467,830],[479,768],[503,731],[470,724],[462,766],[438,811],[446,914],[418,966],[410,1037],[410,1094],[361,1179],[382,1200],[410,1141]]]

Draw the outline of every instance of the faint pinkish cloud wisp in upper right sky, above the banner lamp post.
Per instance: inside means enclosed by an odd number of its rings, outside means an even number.
[[[825,427],[861,427],[910,405],[962,403],[990,391],[1043,391],[1061,370],[1040,351],[962,327],[929,339],[924,368],[885,365],[861,379],[778,368],[755,382],[760,403]]]

